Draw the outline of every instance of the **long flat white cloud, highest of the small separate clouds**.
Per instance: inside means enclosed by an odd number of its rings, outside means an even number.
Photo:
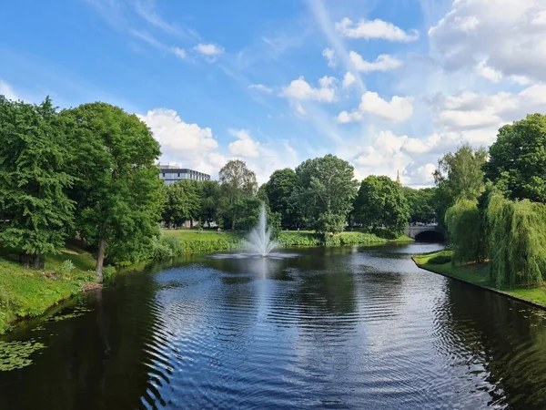
[[[354,23],[348,17],[345,17],[339,23],[336,23],[336,30],[342,36],[351,38],[381,38],[389,41],[410,42],[419,38],[417,30],[406,32],[401,28],[394,26],[392,23],[375,19],[362,19],[358,23]]]

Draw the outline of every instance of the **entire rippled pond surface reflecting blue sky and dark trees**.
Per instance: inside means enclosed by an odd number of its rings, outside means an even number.
[[[543,409],[544,312],[410,260],[437,248],[121,274],[3,339],[47,347],[0,372],[0,408]]]

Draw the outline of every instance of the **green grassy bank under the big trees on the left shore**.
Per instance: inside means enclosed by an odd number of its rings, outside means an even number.
[[[74,269],[66,272],[63,263],[72,261]],[[0,334],[15,321],[34,317],[78,292],[85,282],[94,282],[95,260],[74,246],[60,255],[48,255],[42,270],[25,269],[16,255],[0,255]]]

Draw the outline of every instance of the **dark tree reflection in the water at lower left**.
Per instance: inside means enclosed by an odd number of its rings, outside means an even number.
[[[35,364],[16,374],[0,372],[5,408],[111,409],[137,408],[150,388],[147,350],[156,343],[157,308],[153,278],[137,274],[126,285],[116,278],[116,291],[86,294],[80,317],[44,323],[41,336],[47,348]],[[67,309],[66,313],[70,313]],[[161,337],[161,336],[159,336]],[[162,373],[162,372],[157,372]],[[161,378],[161,377],[158,377]]]

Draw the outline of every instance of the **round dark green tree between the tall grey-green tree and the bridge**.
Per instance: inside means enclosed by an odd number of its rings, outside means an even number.
[[[404,232],[410,219],[408,201],[389,177],[370,175],[360,184],[355,200],[355,218],[372,231],[385,228],[390,237]]]

